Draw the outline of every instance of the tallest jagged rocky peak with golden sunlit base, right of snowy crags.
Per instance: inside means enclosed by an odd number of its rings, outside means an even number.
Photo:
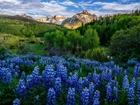
[[[86,23],[97,20],[96,15],[92,15],[88,11],[84,10],[82,13],[74,15],[72,18],[68,18],[63,21],[62,25],[66,28],[76,29]]]

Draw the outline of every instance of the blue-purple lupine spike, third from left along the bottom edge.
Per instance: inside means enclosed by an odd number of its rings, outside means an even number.
[[[69,88],[67,95],[67,105],[74,105],[75,103],[75,88]]]

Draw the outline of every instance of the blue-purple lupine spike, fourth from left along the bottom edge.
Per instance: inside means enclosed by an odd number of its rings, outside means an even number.
[[[89,89],[87,87],[84,88],[84,90],[81,93],[80,104],[81,105],[89,104]]]

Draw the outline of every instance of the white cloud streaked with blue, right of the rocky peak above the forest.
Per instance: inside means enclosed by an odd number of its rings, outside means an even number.
[[[80,2],[79,5],[81,8],[86,9],[97,16],[117,13],[130,13],[132,10],[140,8],[140,2],[131,4],[121,4],[117,2]]]

